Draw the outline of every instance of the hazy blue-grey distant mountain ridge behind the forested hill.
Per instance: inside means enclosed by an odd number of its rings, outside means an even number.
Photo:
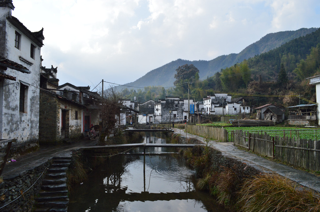
[[[168,64],[165,64],[159,68],[156,68],[144,76],[140,77],[134,82],[127,83],[128,86],[146,87],[146,86],[173,86],[175,70],[184,64],[194,64],[200,71],[200,79],[213,76],[221,69],[230,67],[238,62],[242,62],[244,59],[260,55],[261,53],[268,52],[271,49],[280,47],[284,43],[291,41],[295,38],[310,34],[316,31],[318,28],[301,28],[296,31],[284,31],[277,33],[270,33],[262,37],[259,41],[252,43],[240,53],[222,55],[214,58],[213,60],[197,60],[189,61],[183,59],[177,59]]]

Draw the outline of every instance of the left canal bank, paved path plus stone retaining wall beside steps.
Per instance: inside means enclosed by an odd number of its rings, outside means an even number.
[[[71,158],[73,149],[96,145],[98,139],[84,138],[60,146],[40,146],[39,150],[7,163],[0,180],[0,211],[31,211],[48,167],[54,158]]]

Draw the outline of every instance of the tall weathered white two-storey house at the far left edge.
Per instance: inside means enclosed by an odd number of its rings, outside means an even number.
[[[43,28],[31,32],[0,1],[0,139],[18,140],[20,150],[38,146],[40,52]],[[12,151],[15,151],[12,148]]]

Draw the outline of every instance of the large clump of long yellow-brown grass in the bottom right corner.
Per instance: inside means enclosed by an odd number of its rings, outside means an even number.
[[[239,194],[238,204],[246,212],[320,211],[320,199],[315,193],[297,189],[288,178],[277,174],[246,180]]]

